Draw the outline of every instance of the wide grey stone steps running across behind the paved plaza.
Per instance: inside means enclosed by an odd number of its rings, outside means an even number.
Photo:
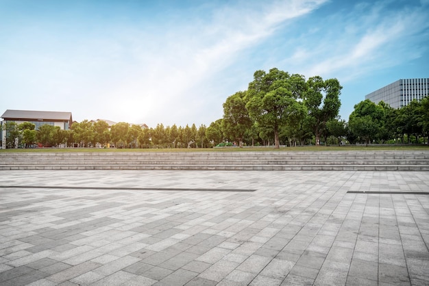
[[[0,153],[0,170],[429,171],[423,151]]]

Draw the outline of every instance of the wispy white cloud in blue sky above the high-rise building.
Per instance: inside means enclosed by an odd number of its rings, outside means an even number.
[[[344,82],[419,57],[421,49],[410,42],[422,40],[413,34],[429,27],[426,12],[419,8],[392,12],[383,4],[356,5],[350,14],[331,15],[332,21],[317,31],[322,36],[313,34],[312,42],[307,42],[308,37],[299,39],[299,47],[282,64],[308,77],[341,76]]]

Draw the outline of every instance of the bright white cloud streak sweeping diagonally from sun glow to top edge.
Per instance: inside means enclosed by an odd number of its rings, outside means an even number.
[[[110,102],[108,108],[115,110],[118,117],[126,112],[127,120],[151,125],[155,120],[164,125],[184,125],[185,118],[190,124],[199,124],[197,120],[209,113],[207,117],[212,118],[204,118],[204,123],[209,124],[221,117],[219,114],[213,118],[213,111],[221,112],[230,94],[205,90],[204,81],[214,77],[221,81],[221,71],[240,57],[241,51],[271,36],[284,21],[302,16],[323,2],[280,1],[247,10],[225,7],[215,10],[212,21],[204,25],[203,21],[197,21],[197,27],[179,24],[166,27],[167,36],[145,35],[142,40],[134,40],[132,47],[123,47],[137,61],[132,65],[132,77],[106,91],[110,99],[121,98]],[[126,33],[127,38],[133,38],[135,31]]]

